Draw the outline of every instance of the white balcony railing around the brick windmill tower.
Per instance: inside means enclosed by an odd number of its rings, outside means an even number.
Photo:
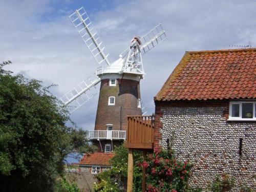
[[[126,139],[126,132],[125,131],[89,131],[89,139]]]

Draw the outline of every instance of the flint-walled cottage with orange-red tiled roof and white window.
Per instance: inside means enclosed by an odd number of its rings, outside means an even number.
[[[186,52],[155,97],[154,145],[174,135],[192,186],[217,175],[256,190],[256,49]]]

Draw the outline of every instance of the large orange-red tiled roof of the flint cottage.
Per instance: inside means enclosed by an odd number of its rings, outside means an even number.
[[[256,49],[186,52],[155,100],[256,98]]]

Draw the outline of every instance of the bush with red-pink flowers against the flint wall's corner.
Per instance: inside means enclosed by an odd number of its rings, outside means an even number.
[[[192,165],[187,161],[181,162],[174,157],[172,150],[154,148],[140,166],[146,167],[147,191],[184,191],[191,175]]]

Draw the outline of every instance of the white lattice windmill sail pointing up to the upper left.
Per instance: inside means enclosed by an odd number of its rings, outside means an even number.
[[[69,18],[99,65],[106,64],[109,66],[109,53],[103,46],[101,38],[83,7],[76,10]]]

